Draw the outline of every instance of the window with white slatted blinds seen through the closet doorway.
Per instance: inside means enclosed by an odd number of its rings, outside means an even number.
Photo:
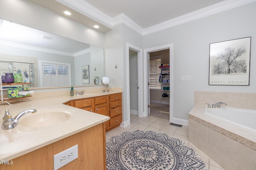
[[[149,61],[149,88],[161,89],[159,76],[161,73],[161,59],[153,59]]]

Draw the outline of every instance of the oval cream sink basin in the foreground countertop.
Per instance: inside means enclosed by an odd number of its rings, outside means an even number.
[[[38,110],[34,114],[24,116],[18,123],[26,127],[48,127],[67,121],[74,113],[76,112],[66,109]]]

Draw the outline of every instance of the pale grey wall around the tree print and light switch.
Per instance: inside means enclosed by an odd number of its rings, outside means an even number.
[[[194,91],[256,92],[256,2],[143,37],[143,48],[173,43],[174,117],[188,120]],[[252,37],[250,86],[209,86],[209,44]],[[190,75],[191,81],[180,81]]]

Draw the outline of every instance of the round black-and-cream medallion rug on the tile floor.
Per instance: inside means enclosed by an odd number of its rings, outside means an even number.
[[[206,170],[179,139],[154,131],[127,131],[106,142],[107,170]]]

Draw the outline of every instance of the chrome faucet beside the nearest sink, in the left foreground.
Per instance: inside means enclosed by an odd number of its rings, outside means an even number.
[[[26,113],[35,113],[36,109],[28,109],[25,111],[20,112],[18,115],[16,115],[14,118],[12,118],[12,115],[10,115],[8,109],[5,109],[5,114],[3,117],[3,123],[2,123],[2,129],[4,130],[8,130],[8,129],[13,129],[14,127],[16,127],[18,120],[20,119],[20,117]]]

